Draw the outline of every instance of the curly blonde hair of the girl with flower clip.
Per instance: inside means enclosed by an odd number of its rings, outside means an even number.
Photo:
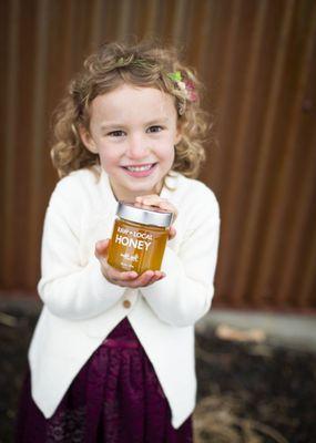
[[[123,83],[156,87],[174,97],[182,138],[175,146],[172,171],[196,177],[205,159],[203,143],[208,130],[207,114],[201,109],[203,85],[194,70],[180,62],[174,48],[163,49],[153,42],[105,43],[84,61],[54,114],[51,157],[59,176],[84,167],[98,173],[99,155],[84,146],[79,127],[89,131],[93,99]]]

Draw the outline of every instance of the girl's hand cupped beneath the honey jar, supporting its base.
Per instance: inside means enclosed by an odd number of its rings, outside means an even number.
[[[142,275],[135,271],[121,271],[108,264],[108,249],[110,239],[101,240],[95,244],[94,255],[100,261],[103,276],[113,285],[125,288],[142,288],[150,286],[165,277],[165,274],[160,270],[146,270]]]

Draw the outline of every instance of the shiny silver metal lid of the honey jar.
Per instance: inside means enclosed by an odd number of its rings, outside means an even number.
[[[125,220],[159,227],[169,227],[173,218],[173,213],[169,210],[129,202],[119,202],[116,215]]]

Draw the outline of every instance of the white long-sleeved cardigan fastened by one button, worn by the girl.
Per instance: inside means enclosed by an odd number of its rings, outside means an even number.
[[[45,418],[126,316],[156,371],[173,426],[193,412],[194,323],[208,311],[214,293],[220,209],[202,182],[172,173],[166,183],[175,190],[164,186],[161,197],[179,209],[176,236],[162,262],[166,277],[140,289],[109,282],[94,257],[95,243],[111,237],[118,206],[105,172],[98,181],[81,169],[58,183],[43,228],[38,290],[44,306],[29,351],[32,396]]]

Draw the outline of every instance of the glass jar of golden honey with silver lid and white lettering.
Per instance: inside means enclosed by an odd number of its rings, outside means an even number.
[[[122,271],[160,270],[173,213],[119,202],[108,262]]]

